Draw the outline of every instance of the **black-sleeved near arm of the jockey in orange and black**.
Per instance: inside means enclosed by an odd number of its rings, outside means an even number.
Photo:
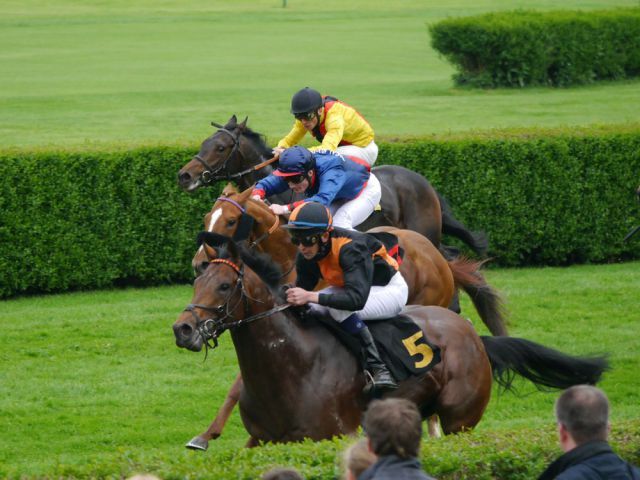
[[[369,298],[373,282],[373,260],[366,245],[352,242],[340,251],[344,287],[335,293],[321,293],[320,305],[338,310],[357,312],[362,310]]]

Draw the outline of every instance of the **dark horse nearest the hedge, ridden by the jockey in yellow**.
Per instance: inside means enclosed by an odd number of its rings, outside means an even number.
[[[178,172],[178,184],[188,192],[218,180],[234,180],[242,190],[273,171],[271,149],[259,133],[238,123],[235,115],[226,125],[212,123],[218,130],[205,139],[200,151]],[[469,231],[458,221],[443,197],[420,174],[404,167],[385,165],[372,170],[380,181],[382,213],[374,212],[359,230],[389,225],[418,232],[440,247],[442,233],[453,235],[476,253],[484,254],[488,242],[483,233]],[[277,196],[277,203],[291,198]],[[272,199],[273,200],[273,199]]]

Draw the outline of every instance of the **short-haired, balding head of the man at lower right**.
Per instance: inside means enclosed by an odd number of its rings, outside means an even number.
[[[567,452],[592,441],[606,441],[609,434],[609,401],[591,385],[568,388],[556,401],[560,445]]]

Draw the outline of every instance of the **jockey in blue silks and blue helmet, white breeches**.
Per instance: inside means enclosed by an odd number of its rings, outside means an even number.
[[[319,202],[329,207],[335,226],[348,229],[364,222],[382,196],[380,182],[359,158],[312,153],[300,146],[286,149],[278,169],[260,180],[251,195],[264,199],[287,189],[304,193],[307,198],[289,205],[272,204],[269,208],[276,215],[289,213],[304,202]]]

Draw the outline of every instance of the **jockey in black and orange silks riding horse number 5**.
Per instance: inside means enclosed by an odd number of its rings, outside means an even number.
[[[409,289],[398,263],[372,235],[332,227],[331,214],[320,203],[296,207],[284,228],[298,246],[296,286],[287,290],[287,301],[311,304],[339,322],[365,350],[374,387],[397,388],[362,320],[394,317],[407,303]],[[312,291],[321,277],[330,286]]]

